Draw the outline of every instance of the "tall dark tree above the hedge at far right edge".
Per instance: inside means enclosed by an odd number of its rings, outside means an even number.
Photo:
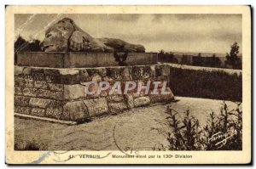
[[[230,54],[226,54],[226,61],[225,65],[230,65],[234,69],[240,69],[241,68],[241,60],[238,58],[239,54],[239,46],[237,42],[235,42],[230,47]]]

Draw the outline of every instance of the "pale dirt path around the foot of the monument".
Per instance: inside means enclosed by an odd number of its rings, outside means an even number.
[[[219,111],[222,103],[212,99],[177,99],[180,101],[172,103],[172,109],[179,112],[189,109],[202,124],[211,110]],[[235,108],[235,104],[228,104]],[[167,144],[165,132],[170,128],[165,111],[166,105],[158,104],[77,126],[15,118],[15,139],[21,146],[33,142],[47,150],[152,150],[156,145]]]

